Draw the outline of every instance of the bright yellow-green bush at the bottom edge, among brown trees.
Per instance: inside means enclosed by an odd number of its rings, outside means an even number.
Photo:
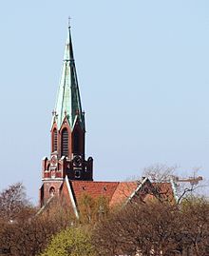
[[[89,231],[82,227],[69,227],[55,235],[41,256],[95,256]]]

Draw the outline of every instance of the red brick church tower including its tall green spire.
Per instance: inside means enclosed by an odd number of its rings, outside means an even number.
[[[85,160],[85,113],[76,74],[70,26],[55,108],[50,129],[50,159],[42,163],[40,201],[43,206],[57,194],[64,180],[92,181],[93,159]]]

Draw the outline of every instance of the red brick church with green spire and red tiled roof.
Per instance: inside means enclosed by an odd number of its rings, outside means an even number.
[[[52,197],[65,197],[79,216],[79,198],[87,193],[92,198],[104,196],[109,206],[125,204],[138,195],[142,200],[154,191],[148,178],[135,182],[104,182],[93,180],[93,158],[85,156],[85,112],[79,91],[70,26],[56,105],[50,128],[50,157],[42,161],[40,207]],[[164,194],[173,197],[172,186],[161,184]],[[162,193],[161,193],[162,194]]]

